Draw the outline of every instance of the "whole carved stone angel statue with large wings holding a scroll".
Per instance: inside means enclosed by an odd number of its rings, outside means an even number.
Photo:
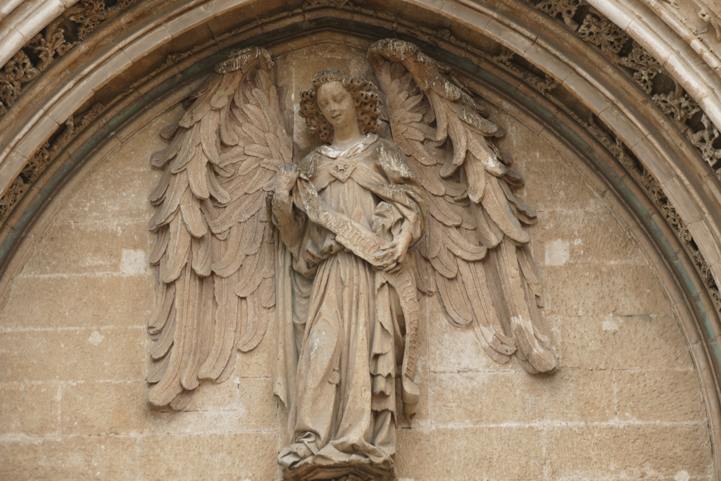
[[[150,402],[182,409],[275,322],[284,480],[394,479],[396,389],[409,419],[420,392],[419,296],[438,296],[495,361],[557,366],[524,229],[536,212],[488,140],[502,129],[416,45],[381,40],[368,60],[378,87],[327,70],[301,94],[324,144],[298,162],[258,48],[216,68],[151,158],[164,175]]]

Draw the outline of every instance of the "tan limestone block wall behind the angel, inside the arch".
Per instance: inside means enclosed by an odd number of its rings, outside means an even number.
[[[304,69],[341,63],[363,73],[353,60],[361,50],[349,49],[286,53],[279,71],[293,65],[296,74],[279,83],[297,101]],[[308,53],[315,61],[304,66]],[[273,327],[229,381],[201,385],[184,411],[147,405],[147,199],[160,174],[149,154],[181,114],[179,105],[158,112],[89,159],[18,254],[22,270],[0,304],[1,479],[278,477],[286,416],[272,395]],[[507,129],[498,146],[539,210],[532,247],[559,372],[494,363],[472,331],[424,298],[422,397],[412,426],[399,415],[399,478],[715,479],[699,374],[658,256],[575,154],[523,119],[496,110],[493,120]],[[296,132],[298,149],[306,140]]]

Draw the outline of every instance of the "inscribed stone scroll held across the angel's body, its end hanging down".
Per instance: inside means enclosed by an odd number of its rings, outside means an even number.
[[[298,178],[296,187],[298,187],[297,193],[301,203],[303,203],[302,206],[298,207],[304,210],[311,222],[331,231],[335,234],[337,242],[343,247],[371,265],[378,267],[374,255],[381,247],[387,247],[390,242],[381,239],[366,226],[329,208],[320,200],[314,185],[304,176],[301,175]],[[412,381],[417,360],[418,324],[420,322],[420,306],[416,296],[415,278],[406,268],[401,268],[396,274],[386,273],[382,270],[378,270],[377,274],[383,276],[397,292],[403,311],[406,335],[401,369],[401,398],[404,413],[410,419],[415,415],[415,407],[420,397],[420,391],[415,382]]]

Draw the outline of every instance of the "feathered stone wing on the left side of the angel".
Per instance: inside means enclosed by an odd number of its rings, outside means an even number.
[[[201,379],[224,381],[260,342],[275,305],[265,197],[291,162],[270,53],[234,50],[194,94],[151,162],[159,265],[149,399],[181,409]]]

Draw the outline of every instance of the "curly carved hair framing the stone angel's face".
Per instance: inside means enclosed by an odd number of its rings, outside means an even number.
[[[340,81],[355,100],[355,114],[358,117],[358,127],[361,129],[361,133],[376,133],[379,127],[378,118],[381,115],[378,87],[371,81],[361,77],[348,76],[340,70],[319,71],[313,76],[313,87],[301,92],[301,111],[299,113],[306,120],[311,133],[317,133],[323,142],[333,141],[333,126],[323,116],[317,100],[320,86],[332,81]]]

